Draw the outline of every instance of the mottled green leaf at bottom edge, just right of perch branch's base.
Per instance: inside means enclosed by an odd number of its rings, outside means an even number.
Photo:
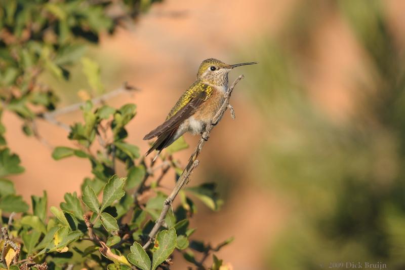
[[[173,253],[176,247],[176,230],[171,228],[169,230],[162,230],[156,236],[156,240],[152,249],[152,270],[156,269],[160,263],[164,262],[170,254]]]

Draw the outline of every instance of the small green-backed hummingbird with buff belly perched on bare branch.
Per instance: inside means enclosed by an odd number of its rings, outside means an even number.
[[[145,156],[156,149],[155,161],[161,150],[185,132],[202,134],[224,102],[229,71],[237,66],[252,64],[257,62],[228,65],[214,58],[204,60],[198,68],[196,81],[180,96],[166,121],[143,138],[150,140],[157,137]]]

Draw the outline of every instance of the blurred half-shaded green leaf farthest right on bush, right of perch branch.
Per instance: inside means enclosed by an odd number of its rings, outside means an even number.
[[[191,192],[211,210],[218,211],[223,205],[223,201],[218,198],[218,194],[215,189],[215,183],[204,183],[199,186],[186,188],[187,191]]]

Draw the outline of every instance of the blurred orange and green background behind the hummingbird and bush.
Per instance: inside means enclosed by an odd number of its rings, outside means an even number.
[[[234,236],[219,252],[234,269],[404,269],[404,11],[401,0],[165,0],[86,56],[100,64],[107,91],[125,81],[140,89],[109,104],[137,104],[128,141],[142,152],[142,137],[165,119],[202,60],[260,62],[230,73],[230,81],[246,76],[231,99],[236,120],[226,114],[214,129],[192,177],[217,182],[225,201],[219,212],[198,208],[195,237],[215,245]],[[80,101],[81,68],[69,83],[42,78],[59,107]],[[80,119],[78,111],[59,118]],[[54,161],[14,114],[5,112],[3,124],[26,169],[12,179],[27,201],[45,189],[57,205],[79,191],[88,162]],[[40,122],[38,130],[52,145],[71,145],[63,129]],[[185,164],[197,139],[187,135],[191,147],[176,158]],[[175,259],[175,269],[187,267]]]

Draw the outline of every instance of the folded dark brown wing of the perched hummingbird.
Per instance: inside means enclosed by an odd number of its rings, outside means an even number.
[[[206,91],[197,92],[196,95],[193,96],[190,101],[180,108],[172,117],[168,118],[163,124],[146,134],[143,139],[150,140],[154,137],[159,137],[168,131],[177,129],[184,120],[195,113],[198,107],[206,100],[206,97]]]

